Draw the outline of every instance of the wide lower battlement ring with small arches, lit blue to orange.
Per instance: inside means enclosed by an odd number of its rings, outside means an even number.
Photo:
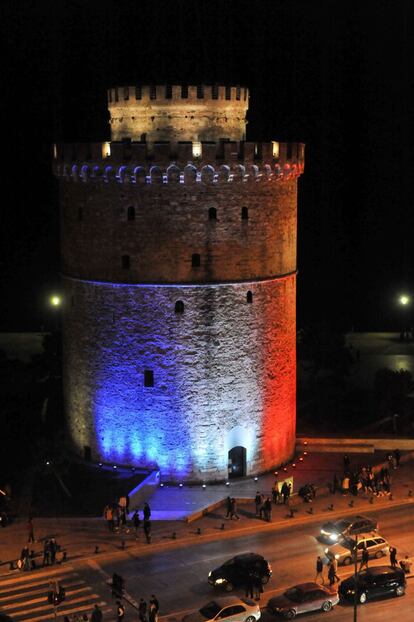
[[[219,183],[285,180],[304,170],[303,143],[73,143],[55,145],[54,172],[73,181]]]

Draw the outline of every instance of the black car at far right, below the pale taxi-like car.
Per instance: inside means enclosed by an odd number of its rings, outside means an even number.
[[[355,591],[359,603],[364,604],[379,596],[403,596],[405,593],[405,573],[401,568],[373,566],[363,570],[355,577],[349,577],[339,586],[339,595],[344,600],[354,602]]]

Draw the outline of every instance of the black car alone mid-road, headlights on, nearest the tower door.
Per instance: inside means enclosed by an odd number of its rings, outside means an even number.
[[[258,575],[265,585],[272,576],[272,568],[261,555],[242,553],[212,570],[208,575],[208,582],[215,587],[224,588],[226,592],[231,592],[234,587],[245,587],[250,573]]]

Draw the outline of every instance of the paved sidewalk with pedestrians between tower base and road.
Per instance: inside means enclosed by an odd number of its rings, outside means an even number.
[[[361,457],[350,455],[352,465],[358,463],[366,464],[367,461],[375,464],[380,462],[380,458],[383,459],[383,457],[383,454],[381,456],[363,455]],[[404,458],[411,458],[411,456],[407,455]],[[246,495],[243,495],[243,497],[250,497],[249,499],[244,499],[244,501],[239,497],[238,515],[240,520],[225,520],[224,506],[216,508],[192,524],[177,520],[153,520],[152,542],[147,544],[142,528],[139,530],[137,539],[131,528],[125,532],[112,534],[107,530],[103,518],[34,518],[37,541],[34,545],[30,545],[29,548],[35,551],[36,563],[40,565],[43,557],[44,539],[55,537],[62,550],[66,551],[67,561],[73,563],[76,560],[88,558],[99,561],[102,555],[122,557],[125,555],[125,550],[145,554],[166,548],[191,545],[196,541],[213,541],[259,530],[277,530],[298,522],[313,521],[318,517],[326,521],[344,513],[356,514],[373,510],[379,512],[381,508],[388,508],[391,504],[406,503],[411,505],[414,502],[414,469],[412,468],[414,462],[411,460],[404,462],[404,458],[401,466],[392,472],[392,496],[375,497],[372,502],[370,502],[371,495],[360,494],[358,497],[353,497],[342,496],[339,493],[336,495],[317,495],[312,503],[302,503],[300,499],[292,499],[292,507],[295,510],[293,518],[287,506],[277,505],[273,506],[272,522],[266,523],[255,517],[253,502],[256,490],[260,490],[264,494],[270,493],[274,477],[266,475],[258,478],[257,482],[254,480],[244,480],[244,482],[239,482],[239,485],[232,484],[229,487],[225,487],[225,492],[231,496],[236,496],[236,493],[239,496],[238,493],[242,491],[246,492]],[[322,485],[331,481],[334,472],[337,472],[338,475],[341,473],[342,455],[314,454],[305,456],[304,462],[301,463],[301,466],[298,464],[296,469],[298,471],[296,474],[295,470],[295,477],[298,480],[301,480],[303,477],[303,481],[315,482],[314,478],[319,477],[319,484]],[[290,466],[284,475],[290,476],[292,470],[294,469]],[[281,479],[279,475],[279,481]],[[410,494],[411,490],[413,491],[413,496]],[[167,491],[160,490],[160,494],[164,494],[164,492]],[[183,489],[174,490],[173,492],[175,496],[181,492],[189,494],[191,489],[189,488],[187,492]],[[199,493],[204,494],[204,492],[208,493],[208,489],[200,487]],[[227,496],[227,494],[224,496]],[[207,500],[205,497],[202,497],[202,499]],[[165,497],[165,500],[167,500],[167,497]],[[351,503],[353,507],[350,507]],[[333,510],[329,509],[331,504],[334,506]],[[26,543],[26,539],[26,517],[0,530],[0,575],[9,572],[20,572],[10,571],[9,565],[10,561],[15,562],[20,556],[20,551]],[[62,553],[58,555],[58,560],[61,556]]]

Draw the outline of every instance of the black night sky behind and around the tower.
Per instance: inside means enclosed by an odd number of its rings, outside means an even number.
[[[306,143],[299,325],[398,325],[396,296],[414,290],[410,0],[14,0],[0,13],[0,330],[50,322],[51,144],[109,138],[106,89],[164,82],[247,85],[248,139]]]

